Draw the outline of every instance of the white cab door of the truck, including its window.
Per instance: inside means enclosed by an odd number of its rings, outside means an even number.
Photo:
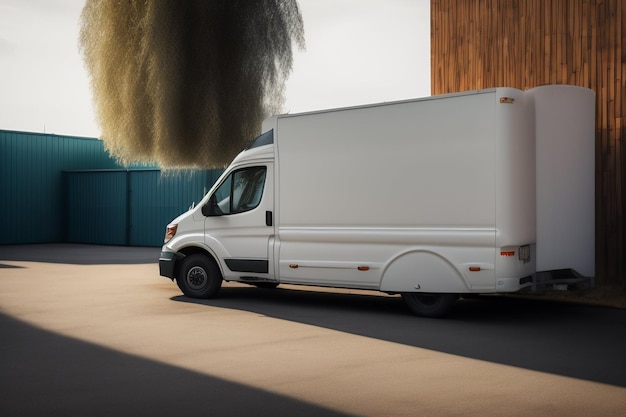
[[[226,280],[275,281],[273,163],[238,167],[202,207],[205,243]]]

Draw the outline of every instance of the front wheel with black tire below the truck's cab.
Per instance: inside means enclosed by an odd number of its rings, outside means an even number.
[[[211,298],[222,286],[222,274],[213,259],[194,254],[181,261],[176,283],[187,297]]]

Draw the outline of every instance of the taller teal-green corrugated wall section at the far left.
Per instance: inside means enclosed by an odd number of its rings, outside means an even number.
[[[98,139],[0,130],[0,244],[61,242],[61,172],[118,167]]]

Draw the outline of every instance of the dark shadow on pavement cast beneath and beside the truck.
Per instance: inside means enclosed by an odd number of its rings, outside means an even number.
[[[626,387],[626,310],[485,296],[444,319],[408,312],[399,297],[225,287],[195,300],[345,333]]]

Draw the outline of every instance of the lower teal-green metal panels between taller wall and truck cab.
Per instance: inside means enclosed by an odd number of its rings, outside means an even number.
[[[165,226],[200,201],[221,172],[67,171],[66,241],[161,246]]]

